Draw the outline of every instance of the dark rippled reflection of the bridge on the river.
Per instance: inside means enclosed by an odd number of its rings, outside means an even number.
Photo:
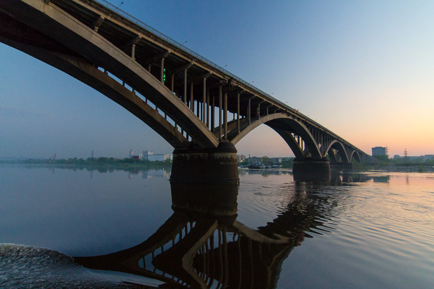
[[[172,183],[171,188],[174,213],[145,242],[75,261],[157,279],[170,288],[274,288],[292,248],[327,230],[336,206],[310,194],[314,184],[296,183],[283,213],[254,230],[236,220],[237,186]]]

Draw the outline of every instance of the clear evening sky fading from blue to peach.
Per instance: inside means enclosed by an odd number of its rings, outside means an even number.
[[[113,5],[119,0],[110,0]],[[122,10],[371,154],[434,154],[434,1],[124,0]],[[261,125],[239,154],[292,156]],[[144,122],[0,43],[0,157],[171,153]]]

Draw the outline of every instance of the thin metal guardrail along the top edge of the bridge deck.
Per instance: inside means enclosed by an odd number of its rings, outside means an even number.
[[[287,109],[289,109],[289,110],[291,110],[291,111],[294,112],[294,108],[292,108],[291,106],[288,106],[287,104],[285,104],[285,103],[281,102],[280,100],[274,98],[274,97],[271,96],[270,94],[268,94],[268,93],[266,93],[266,92],[264,92],[264,91],[261,91],[260,89],[258,89],[257,87],[253,86],[252,84],[246,82],[245,80],[241,79],[240,77],[233,75],[232,73],[230,73],[229,71],[227,71],[226,69],[224,69],[223,67],[221,67],[220,65],[217,65],[217,64],[215,64],[214,62],[212,62],[212,61],[206,59],[205,57],[203,57],[203,56],[197,54],[197,53],[194,52],[193,50],[191,50],[191,49],[189,49],[189,48],[183,46],[182,44],[180,44],[179,42],[173,40],[173,39],[170,38],[169,36],[164,35],[164,34],[161,33],[160,31],[158,31],[158,30],[156,30],[156,29],[150,27],[149,25],[147,25],[147,24],[144,23],[143,21],[140,21],[140,20],[137,19],[136,17],[134,17],[134,16],[132,16],[132,15],[129,15],[127,12],[125,12],[125,11],[119,9],[118,7],[116,7],[116,6],[114,6],[113,4],[109,3],[108,1],[106,1],[106,0],[92,0],[92,1],[95,1],[95,2],[99,3],[100,5],[102,5],[102,6],[106,7],[106,8],[108,8],[109,10],[113,11],[114,13],[116,13],[116,14],[118,14],[118,15],[124,17],[125,19],[128,19],[129,21],[135,23],[135,24],[138,25],[139,27],[141,27],[141,28],[143,28],[143,29],[145,29],[145,30],[147,30],[147,31],[149,31],[149,32],[151,32],[151,33],[157,35],[158,37],[160,37],[161,39],[167,41],[168,43],[170,43],[170,44],[172,44],[172,45],[174,45],[174,46],[177,46],[178,48],[180,48],[180,49],[183,50],[184,52],[187,52],[187,53],[191,54],[191,55],[192,55],[193,57],[195,57],[196,59],[198,59],[198,60],[200,60],[200,61],[203,61],[203,62],[209,64],[210,66],[216,68],[217,70],[219,70],[220,72],[224,73],[225,75],[230,76],[230,77],[236,79],[237,81],[239,81],[239,82],[241,82],[242,84],[248,86],[249,88],[253,89],[254,91],[257,91],[258,93],[260,93],[260,94],[262,94],[262,95],[268,97],[269,99],[273,100],[274,102],[276,102],[276,103],[280,104],[281,106],[286,107]],[[354,147],[350,142],[346,141],[346,140],[343,139],[342,137],[339,137],[338,135],[336,135],[335,133],[333,133],[333,132],[330,131],[329,129],[327,129],[327,128],[325,128],[324,126],[322,126],[320,123],[318,123],[318,122],[312,120],[311,118],[307,117],[306,115],[304,115],[304,114],[302,114],[302,113],[298,113],[298,114],[300,114],[301,116],[303,116],[306,120],[309,120],[310,122],[315,123],[315,125],[317,125],[318,127],[321,127],[321,129],[327,130],[327,131],[328,131],[329,133],[331,133],[332,135],[335,135],[337,138],[339,138],[339,139],[345,141],[348,145]],[[354,149],[357,149],[357,148],[354,147]],[[363,152],[363,151],[360,150],[360,149],[357,149],[357,150]]]

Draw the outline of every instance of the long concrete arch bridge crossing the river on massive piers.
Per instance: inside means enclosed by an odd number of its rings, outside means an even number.
[[[0,41],[125,107],[175,149],[171,181],[237,183],[235,145],[261,124],[295,155],[294,175],[367,154],[105,0],[0,0]]]

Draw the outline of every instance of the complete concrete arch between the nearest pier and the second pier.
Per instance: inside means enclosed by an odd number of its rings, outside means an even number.
[[[303,152],[297,140],[292,136],[292,133],[302,137],[305,147],[312,158],[317,160],[322,159],[321,152],[318,149],[318,144],[309,132],[309,129],[303,123],[293,119],[291,116],[288,116],[285,113],[273,113],[261,116],[260,118],[254,119],[250,124],[245,122],[241,127],[240,133],[238,133],[236,129],[233,129],[228,133],[227,138],[235,145],[243,137],[245,137],[248,133],[261,124],[266,124],[275,130],[286,141],[286,143],[289,145],[289,148],[297,158],[305,158],[307,152]]]

